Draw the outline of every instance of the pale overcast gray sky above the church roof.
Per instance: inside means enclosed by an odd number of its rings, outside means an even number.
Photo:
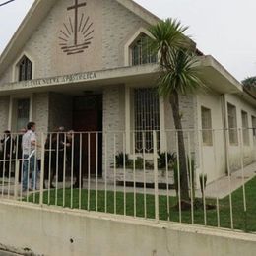
[[[0,3],[5,0],[0,0]],[[0,52],[33,0],[0,7]],[[178,18],[205,54],[213,55],[238,80],[256,75],[255,0],[136,0],[160,18]]]

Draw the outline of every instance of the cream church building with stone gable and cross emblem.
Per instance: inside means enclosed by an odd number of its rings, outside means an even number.
[[[98,132],[91,164],[101,175],[106,155],[151,159],[154,136],[143,143],[143,131],[158,131],[158,151],[173,151],[171,107],[156,93],[158,56],[147,43],[159,21],[132,0],[34,1],[0,56],[0,131],[32,120],[38,133]],[[241,153],[245,164],[256,160],[256,99],[212,56],[198,50],[198,59],[208,90],[180,96],[182,123],[197,174],[213,181],[240,168]]]

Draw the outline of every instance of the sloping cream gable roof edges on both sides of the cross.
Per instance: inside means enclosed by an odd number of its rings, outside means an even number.
[[[17,54],[23,49],[26,41],[32,36],[32,32],[36,30],[57,1],[58,0],[34,0],[30,11],[0,56],[0,76],[15,60]],[[115,1],[149,24],[153,25],[160,21],[160,18],[132,0]]]

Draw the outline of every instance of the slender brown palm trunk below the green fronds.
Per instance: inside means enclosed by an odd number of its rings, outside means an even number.
[[[186,164],[186,151],[184,136],[182,131],[182,123],[179,112],[179,96],[174,92],[170,98],[170,105],[172,108],[172,115],[174,119],[175,129],[177,130],[178,137],[178,153],[179,153],[179,167],[180,167],[180,197],[182,201],[189,201],[188,177],[187,177],[187,164]]]

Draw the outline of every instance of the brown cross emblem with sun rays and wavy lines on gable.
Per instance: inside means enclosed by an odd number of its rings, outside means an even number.
[[[68,13],[74,12],[74,19],[68,17],[68,21],[63,24],[59,36],[59,45],[67,55],[83,53],[94,38],[94,24],[90,21],[90,17],[85,12],[81,12],[79,15],[79,10],[85,10],[87,3],[79,3],[79,0],[74,1],[74,5],[67,8]]]

